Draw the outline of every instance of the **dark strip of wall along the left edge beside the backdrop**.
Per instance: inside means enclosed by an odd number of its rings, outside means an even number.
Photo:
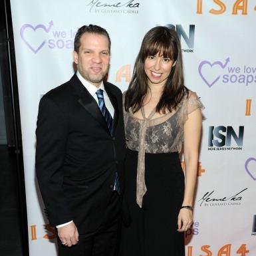
[[[0,0],[0,255],[29,255],[21,138],[11,6]]]

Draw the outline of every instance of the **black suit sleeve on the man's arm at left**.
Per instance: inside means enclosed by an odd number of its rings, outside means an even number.
[[[37,180],[49,221],[56,226],[73,219],[62,188],[68,123],[59,106],[47,96],[39,104],[36,135]]]

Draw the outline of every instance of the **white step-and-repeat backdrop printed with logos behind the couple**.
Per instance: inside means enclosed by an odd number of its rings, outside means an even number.
[[[90,23],[110,33],[108,80],[121,90],[128,87],[145,33],[156,25],[176,29],[186,86],[201,97],[206,117],[186,255],[256,255],[255,5],[252,0],[11,0],[31,256],[57,253],[35,178],[39,100],[72,76],[74,35]]]

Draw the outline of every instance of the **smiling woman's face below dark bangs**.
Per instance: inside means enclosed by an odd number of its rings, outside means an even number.
[[[148,56],[144,62],[148,84],[150,86],[164,86],[174,65],[173,60],[164,58],[161,53],[157,53],[155,56]]]

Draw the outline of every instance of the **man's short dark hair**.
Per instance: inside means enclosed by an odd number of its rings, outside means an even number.
[[[92,34],[98,34],[98,35],[104,35],[108,39],[108,49],[110,51],[111,41],[110,37],[108,35],[108,32],[106,32],[106,29],[103,29],[100,26],[97,25],[84,25],[78,29],[76,32],[76,36],[74,37],[74,51],[78,53],[79,47],[80,47],[80,38],[84,33],[92,33]]]

